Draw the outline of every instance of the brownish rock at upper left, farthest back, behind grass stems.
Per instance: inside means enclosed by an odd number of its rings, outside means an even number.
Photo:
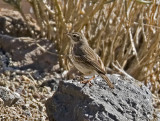
[[[40,37],[40,28],[29,14],[26,15],[28,25],[32,34]],[[32,37],[26,22],[18,11],[1,9],[0,10],[0,34],[7,34],[14,37]]]

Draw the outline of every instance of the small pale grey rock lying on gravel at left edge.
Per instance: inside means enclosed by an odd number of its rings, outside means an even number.
[[[6,87],[0,86],[0,98],[4,101],[5,106],[11,106],[20,99],[20,95],[18,93],[12,92]]]

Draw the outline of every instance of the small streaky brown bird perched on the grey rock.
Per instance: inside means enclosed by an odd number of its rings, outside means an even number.
[[[100,57],[89,46],[87,39],[79,32],[73,32],[67,34],[71,39],[71,53],[70,59],[74,66],[84,75],[92,75],[93,77],[82,83],[90,83],[95,75],[100,75],[109,85],[110,88],[114,88],[108,77],[105,75],[106,71]],[[91,83],[90,83],[91,84]]]

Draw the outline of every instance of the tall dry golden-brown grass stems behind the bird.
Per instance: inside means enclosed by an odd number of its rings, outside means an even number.
[[[4,0],[5,1],[5,0]],[[10,4],[19,10],[20,0]],[[160,90],[160,3],[153,0],[28,0],[41,28],[60,55],[67,55],[70,42],[64,33],[81,31],[105,66],[118,64],[134,78]],[[148,4],[150,3],[150,4]],[[34,34],[33,34],[34,36]],[[60,65],[69,61],[60,56]],[[113,68],[114,69],[114,68]]]

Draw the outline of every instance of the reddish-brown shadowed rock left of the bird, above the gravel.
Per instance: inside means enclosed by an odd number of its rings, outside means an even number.
[[[56,53],[52,42],[46,39],[36,40],[47,51]],[[0,48],[12,56],[12,60],[17,62],[14,68],[35,69],[39,71],[53,70],[58,62],[58,57],[43,52],[35,43],[35,40],[29,37],[11,37],[0,34]]]

